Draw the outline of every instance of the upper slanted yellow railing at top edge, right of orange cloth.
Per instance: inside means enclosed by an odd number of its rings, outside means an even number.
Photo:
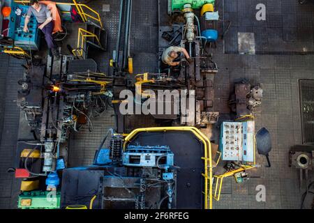
[[[26,5],[29,3],[29,0],[15,0],[15,2]],[[94,22],[103,29],[103,22],[101,22],[99,13],[97,13],[96,10],[92,9],[91,7],[82,3],[77,3],[75,0],[73,0],[73,3],[56,2],[56,5],[75,6],[77,13],[80,15],[80,17],[82,17],[83,22]],[[61,11],[61,13],[69,12]]]

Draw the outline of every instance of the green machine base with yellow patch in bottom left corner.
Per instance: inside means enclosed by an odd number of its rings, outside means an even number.
[[[21,209],[58,209],[60,208],[61,192],[31,191],[19,195],[17,207]]]

